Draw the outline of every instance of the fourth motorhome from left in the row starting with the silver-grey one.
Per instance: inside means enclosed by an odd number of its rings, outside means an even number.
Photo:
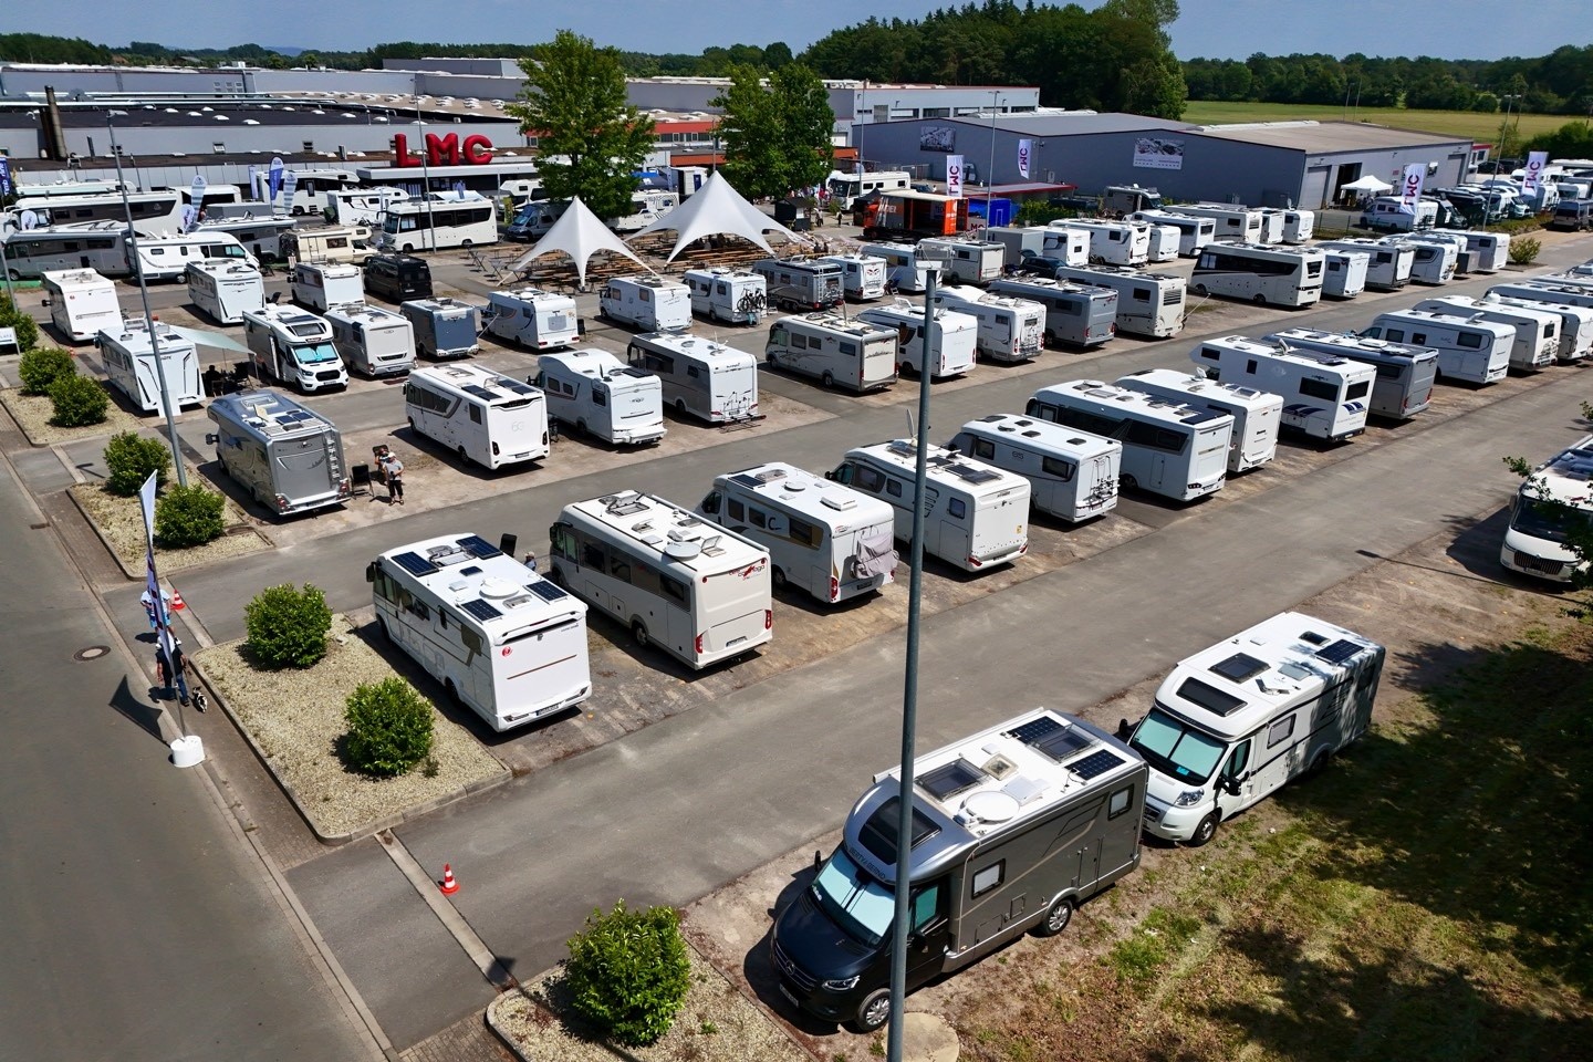
[[[632,336],[626,360],[664,385],[664,404],[707,424],[744,424],[758,414],[758,360],[704,336]]]

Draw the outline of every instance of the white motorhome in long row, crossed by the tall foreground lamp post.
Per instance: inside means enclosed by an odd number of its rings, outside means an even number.
[[[940,446],[927,447],[924,552],[965,572],[1012,564],[1029,549],[1029,481]],[[895,439],[846,452],[827,479],[895,510],[895,533],[913,538],[918,444]]]

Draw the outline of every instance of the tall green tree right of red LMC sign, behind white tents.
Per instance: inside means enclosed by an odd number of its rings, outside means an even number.
[[[616,48],[559,30],[519,61],[526,86],[505,110],[537,137],[542,186],[585,202],[599,218],[631,213],[634,172],[653,150],[653,119],[626,103]]]

